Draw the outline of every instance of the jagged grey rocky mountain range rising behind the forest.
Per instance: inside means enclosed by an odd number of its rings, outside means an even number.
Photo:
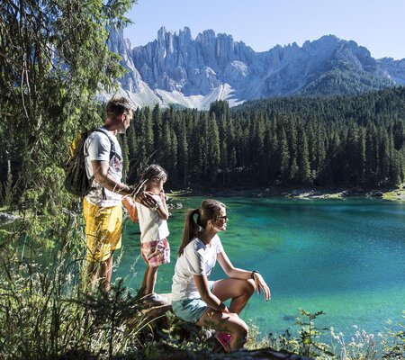
[[[355,95],[405,85],[405,58],[373,58],[353,40],[334,35],[256,52],[231,35],[189,28],[157,31],[157,40],[134,47],[112,31],[112,51],[128,71],[120,91],[136,106],[170,104],[207,109],[275,96]],[[105,97],[111,94],[104,94]]]

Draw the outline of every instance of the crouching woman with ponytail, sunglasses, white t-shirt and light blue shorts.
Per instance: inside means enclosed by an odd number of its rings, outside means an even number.
[[[239,312],[255,290],[263,290],[268,301],[270,289],[257,271],[238,269],[229,261],[217,235],[227,228],[227,221],[225,205],[216,200],[204,200],[189,211],[175,263],[172,307],[183,320],[220,330],[217,339],[232,351],[243,347],[247,339],[247,324]],[[209,281],[217,260],[229,278]],[[223,303],[228,299],[229,308]]]

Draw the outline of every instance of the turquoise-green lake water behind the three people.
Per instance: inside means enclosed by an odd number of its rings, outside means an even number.
[[[225,198],[228,229],[222,244],[234,266],[258,270],[272,300],[255,294],[242,311],[262,334],[295,329],[298,309],[324,311],[321,327],[383,331],[405,310],[405,202]],[[168,220],[171,264],[160,266],[157,293],[170,293],[184,215],[202,198],[179,198],[182,209]],[[124,225],[121,263],[115,277],[137,289],[145,265],[139,257],[137,224]],[[115,259],[120,257],[120,253]],[[217,265],[212,280],[223,277]]]

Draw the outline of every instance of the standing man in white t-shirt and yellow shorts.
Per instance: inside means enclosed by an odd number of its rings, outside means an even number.
[[[106,106],[102,131],[92,132],[85,140],[85,170],[88,178],[94,175],[93,189],[84,199],[89,290],[94,289],[98,278],[101,288],[110,290],[112,255],[121,247],[121,201],[124,197],[130,202],[133,189],[121,183],[122,154],[116,135],[124,133],[131,120],[128,99],[112,99]],[[150,193],[139,193],[136,201],[147,207],[156,206]]]

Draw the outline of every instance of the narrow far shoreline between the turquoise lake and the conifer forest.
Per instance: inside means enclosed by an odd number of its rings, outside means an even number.
[[[363,188],[341,188],[330,189],[320,187],[302,188],[250,188],[250,189],[186,189],[169,192],[174,197],[184,196],[210,196],[210,197],[286,197],[299,199],[346,199],[356,197],[380,198],[383,200],[405,201],[405,187],[402,185],[395,189],[363,189]]]

